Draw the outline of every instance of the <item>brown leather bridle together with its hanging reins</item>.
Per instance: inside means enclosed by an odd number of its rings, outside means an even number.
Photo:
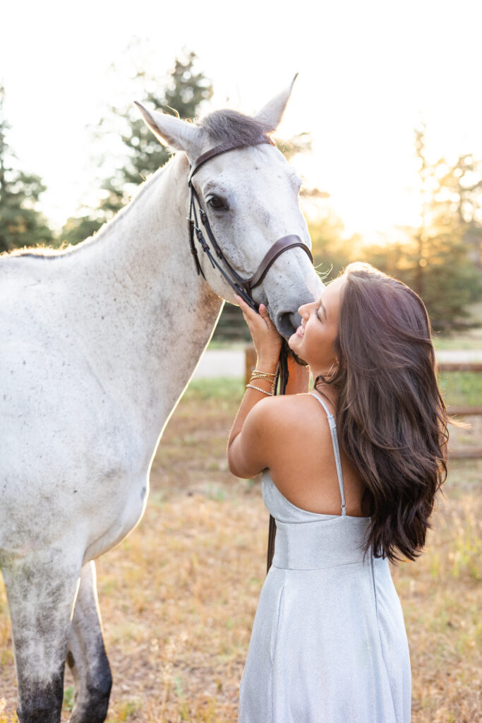
[[[189,205],[189,218],[188,226],[189,226],[189,245],[191,247],[191,254],[194,258],[194,265],[196,267],[197,275],[202,275],[203,278],[206,279],[205,273],[202,270],[202,266],[199,262],[199,256],[197,253],[196,245],[194,244],[194,235],[196,236],[197,240],[199,241],[199,244],[207,255],[207,258],[210,260],[210,263],[212,265],[212,268],[218,268],[220,273],[223,275],[225,280],[228,282],[228,284],[233,288],[234,291],[236,291],[236,294],[241,296],[244,301],[246,301],[246,304],[249,304],[251,309],[254,309],[255,312],[259,311],[259,304],[254,301],[252,296],[252,289],[256,286],[259,286],[259,284],[263,281],[264,277],[266,276],[267,272],[270,270],[271,265],[275,262],[278,256],[283,254],[285,251],[288,251],[288,249],[294,249],[294,248],[301,248],[306,252],[306,254],[309,257],[309,260],[311,263],[313,263],[313,257],[311,256],[310,249],[304,244],[303,241],[301,241],[299,236],[295,236],[294,234],[290,234],[289,236],[283,236],[281,239],[277,239],[275,241],[275,244],[272,245],[270,249],[268,249],[267,253],[262,258],[261,263],[259,264],[257,270],[254,272],[252,276],[249,278],[242,278],[235,269],[231,266],[231,264],[228,262],[228,260],[225,258],[223,251],[220,249],[218,241],[215,239],[215,235],[212,233],[212,228],[210,226],[209,218],[207,218],[207,214],[205,210],[202,208],[201,200],[199,199],[199,194],[197,193],[197,190],[194,188],[192,184],[192,177],[194,174],[199,171],[199,168],[203,166],[207,161],[210,161],[211,158],[215,158],[218,155],[221,155],[222,153],[228,153],[230,150],[236,150],[239,148],[246,148],[251,145],[262,145],[263,143],[267,143],[269,145],[275,145],[270,138],[267,136],[261,136],[259,139],[253,143],[239,143],[239,144],[233,144],[233,143],[222,143],[221,145],[217,145],[214,148],[211,148],[210,150],[207,150],[206,153],[203,153],[199,156],[199,158],[194,161],[193,165],[191,166],[191,169],[189,171],[189,177],[188,177],[188,183],[189,188],[191,189],[191,201]],[[199,209],[199,218],[201,219],[202,225],[205,227],[205,231],[207,234],[208,239],[210,240],[212,244],[212,248],[215,251],[216,256],[218,257],[218,260],[215,258],[214,254],[212,254],[212,251],[210,249],[209,244],[207,244],[207,241],[205,239],[204,234],[202,233],[202,228],[199,226],[199,221],[197,218],[197,208]],[[220,265],[220,262],[223,262],[223,268]],[[289,347],[288,343],[283,339],[283,346],[281,347],[280,351],[280,360],[278,363],[278,380],[279,380],[279,393],[284,394],[286,390],[286,385],[288,383],[288,354],[289,354]],[[270,529],[268,532],[268,549],[267,549],[267,571],[270,570],[272,558],[275,553],[275,536],[276,536],[276,522],[275,518],[270,515]]]

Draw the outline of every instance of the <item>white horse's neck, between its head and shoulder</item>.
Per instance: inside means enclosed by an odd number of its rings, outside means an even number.
[[[86,278],[85,271],[89,277],[90,309],[83,312],[91,320],[89,335],[100,344],[103,375],[116,377],[157,434],[223,305],[191,259],[187,171],[184,154],[178,154],[86,242],[76,262],[77,278]]]

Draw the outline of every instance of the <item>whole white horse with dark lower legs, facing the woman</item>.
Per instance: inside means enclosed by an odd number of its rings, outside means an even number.
[[[291,84],[292,85],[292,84]],[[21,723],[59,723],[64,664],[72,723],[102,723],[111,672],[100,630],[96,557],[145,509],[152,457],[233,292],[189,249],[193,183],[236,272],[248,277],[280,236],[310,244],[300,181],[272,145],[291,87],[254,118],[215,111],[199,125],[142,112],[180,151],[92,239],[0,258],[0,566],[7,588]],[[321,282],[306,254],[278,257],[254,290],[288,337]]]

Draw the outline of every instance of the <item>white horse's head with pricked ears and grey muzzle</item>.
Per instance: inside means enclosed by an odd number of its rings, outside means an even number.
[[[294,82],[294,80],[293,80]],[[319,296],[322,282],[308,254],[311,247],[306,222],[298,203],[301,179],[277,147],[270,142],[285,111],[293,82],[270,100],[256,116],[237,111],[214,111],[197,124],[149,111],[137,103],[148,126],[163,145],[183,152],[194,189],[194,210],[207,215],[212,237],[207,244],[218,246],[218,259],[234,277],[250,278],[278,239],[297,237],[298,247],[285,249],[270,262],[262,281],[252,288],[256,304],[266,304],[277,330],[285,338],[299,324],[298,307]],[[200,163],[208,151],[221,149]],[[196,166],[197,164],[197,166]],[[189,168],[186,163],[185,194],[189,214]],[[200,226],[200,223],[199,223]],[[208,234],[209,236],[209,234]],[[187,230],[186,230],[187,237]],[[194,242],[197,243],[194,238]],[[218,268],[197,247],[199,268],[212,291],[235,303],[233,288]],[[212,250],[212,249],[211,249]],[[186,238],[186,257],[189,251]],[[216,254],[214,254],[216,257]]]

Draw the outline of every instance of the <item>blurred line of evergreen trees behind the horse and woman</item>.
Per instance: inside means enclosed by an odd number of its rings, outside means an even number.
[[[145,70],[136,72],[134,80],[144,89],[139,95],[142,102],[183,119],[198,115],[212,97],[212,82],[197,69],[193,52],[176,59],[163,89]],[[0,88],[0,252],[83,241],[126,205],[146,176],[168,161],[168,151],[147,129],[132,103],[112,106],[108,115],[126,121],[121,133],[124,161],[107,179],[100,179],[97,207],[69,218],[60,236],[55,236],[38,210],[45,190],[41,179],[15,168],[7,142],[4,89]],[[100,137],[105,127],[108,121],[102,119]],[[278,147],[287,158],[304,153],[311,149],[309,134],[279,142]],[[446,158],[431,162],[423,124],[415,129],[415,154],[420,223],[416,228],[397,229],[398,238],[390,243],[370,244],[358,235],[347,236],[343,221],[320,202],[327,194],[318,189],[304,191],[309,199],[306,211],[315,265],[324,280],[330,281],[349,262],[367,261],[414,288],[429,309],[436,330],[453,330],[468,323],[468,307],[482,291],[482,162],[471,155],[461,155],[455,162]],[[237,307],[225,306],[215,338],[249,338]]]

